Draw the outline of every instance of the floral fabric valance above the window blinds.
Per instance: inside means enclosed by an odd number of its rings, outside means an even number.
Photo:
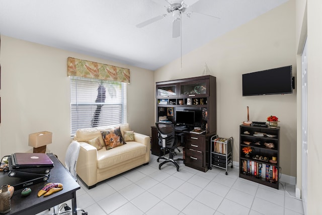
[[[114,65],[67,58],[67,76],[130,83],[130,69]]]

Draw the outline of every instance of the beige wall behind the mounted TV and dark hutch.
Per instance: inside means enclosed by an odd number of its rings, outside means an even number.
[[[184,46],[185,44],[183,44]],[[266,121],[276,115],[281,121],[280,166],[282,174],[296,177],[296,93],[243,97],[241,75],[292,65],[296,72],[295,2],[286,4],[211,41],[181,59],[155,71],[154,80],[165,81],[201,76],[207,63],[217,78],[217,133],[234,139],[234,161],[239,159],[239,124]]]

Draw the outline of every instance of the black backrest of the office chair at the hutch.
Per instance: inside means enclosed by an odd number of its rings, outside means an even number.
[[[177,145],[175,135],[175,125],[166,122],[156,122],[156,129],[158,131],[158,144],[163,148],[174,148]]]

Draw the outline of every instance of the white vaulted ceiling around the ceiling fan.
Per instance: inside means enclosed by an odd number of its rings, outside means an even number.
[[[0,33],[155,70],[288,0],[186,0],[182,37],[172,38],[166,0],[1,0]],[[169,0],[169,2],[173,2]],[[194,3],[196,3],[194,5]],[[181,48],[182,40],[182,48]]]

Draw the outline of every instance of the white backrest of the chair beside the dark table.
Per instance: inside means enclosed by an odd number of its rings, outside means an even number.
[[[65,166],[76,181],[77,181],[76,163],[77,163],[80,148],[81,148],[81,145],[79,144],[79,142],[73,141],[71,142],[71,144],[69,144],[65,155]]]

